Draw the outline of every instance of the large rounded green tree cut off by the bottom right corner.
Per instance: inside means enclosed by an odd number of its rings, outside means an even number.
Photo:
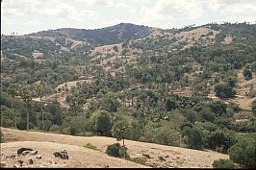
[[[228,155],[243,167],[255,168],[255,139],[252,137],[241,139],[228,150]]]

